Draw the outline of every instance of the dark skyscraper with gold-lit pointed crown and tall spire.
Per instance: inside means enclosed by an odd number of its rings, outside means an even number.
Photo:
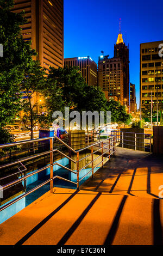
[[[120,33],[118,34],[117,42],[114,45],[114,57],[121,58],[123,62],[123,98],[129,107],[129,49],[123,42],[121,33],[121,20],[120,20]]]

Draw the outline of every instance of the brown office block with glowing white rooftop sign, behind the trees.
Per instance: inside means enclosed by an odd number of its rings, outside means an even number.
[[[89,86],[97,86],[97,64],[90,56],[66,58],[64,59],[64,65],[68,66],[68,68],[70,66],[79,66],[85,82]]]

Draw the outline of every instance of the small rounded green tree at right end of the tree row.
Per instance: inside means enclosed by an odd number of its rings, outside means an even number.
[[[120,102],[111,100],[106,104],[108,111],[111,111],[111,122],[120,124],[130,124],[132,120],[131,114],[126,112],[126,107]]]

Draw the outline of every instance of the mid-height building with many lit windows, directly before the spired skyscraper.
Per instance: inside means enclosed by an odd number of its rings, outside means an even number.
[[[107,100],[114,99],[123,105],[123,62],[121,58],[108,57],[99,57],[98,85]]]

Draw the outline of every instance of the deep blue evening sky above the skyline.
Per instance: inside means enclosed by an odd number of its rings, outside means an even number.
[[[139,104],[140,43],[163,40],[162,17],[162,0],[64,0],[65,58],[89,55],[98,63],[102,50],[113,57],[121,18]]]

